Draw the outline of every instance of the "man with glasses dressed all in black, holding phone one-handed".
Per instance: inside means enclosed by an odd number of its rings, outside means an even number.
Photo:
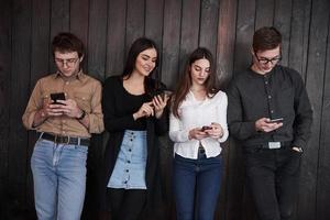
[[[302,148],[312,110],[300,75],[280,61],[282,35],[262,28],[253,35],[253,63],[228,90],[228,123],[242,141],[249,185],[262,220],[293,217]]]

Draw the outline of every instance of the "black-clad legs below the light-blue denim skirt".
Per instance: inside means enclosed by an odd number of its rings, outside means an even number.
[[[138,220],[146,199],[145,189],[108,188],[111,220]]]

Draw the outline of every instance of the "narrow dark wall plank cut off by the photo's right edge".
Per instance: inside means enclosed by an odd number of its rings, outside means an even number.
[[[324,6],[327,9],[327,6]],[[323,13],[329,15],[328,10]],[[327,57],[326,57],[326,76],[323,89],[323,105],[322,105],[322,122],[320,135],[320,151],[319,151],[319,166],[318,166],[318,182],[317,182],[317,210],[316,219],[326,220],[330,217],[330,21],[328,20],[328,41],[327,41]]]

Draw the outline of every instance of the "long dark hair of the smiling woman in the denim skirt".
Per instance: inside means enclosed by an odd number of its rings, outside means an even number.
[[[135,68],[135,62],[136,62],[136,58],[138,58],[139,54],[141,52],[145,51],[145,50],[148,50],[148,48],[155,48],[156,50],[157,59],[156,59],[155,68],[144,79],[144,90],[145,90],[146,94],[150,94],[150,92],[152,92],[152,90],[155,89],[155,85],[152,84],[152,79],[151,79],[152,75],[156,75],[156,78],[158,77],[157,67],[158,67],[158,63],[160,63],[160,53],[158,53],[158,48],[157,48],[154,41],[152,41],[150,38],[146,38],[146,37],[136,38],[133,42],[133,44],[131,45],[124,69],[121,74],[122,79],[130,78],[133,70],[134,70],[134,68]]]

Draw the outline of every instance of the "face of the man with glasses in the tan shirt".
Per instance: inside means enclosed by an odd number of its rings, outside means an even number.
[[[79,73],[82,56],[79,58],[77,52],[55,52],[54,56],[55,64],[62,76],[70,78]]]

